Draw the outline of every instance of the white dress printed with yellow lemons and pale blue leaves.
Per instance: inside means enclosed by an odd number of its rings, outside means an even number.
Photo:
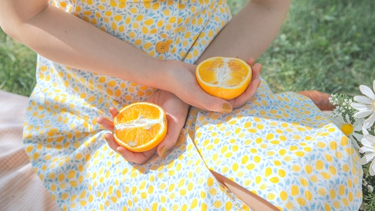
[[[231,18],[225,1],[52,0],[51,4],[160,59],[195,63]],[[62,210],[250,210],[210,170],[280,210],[358,210],[359,156],[314,104],[292,92],[257,94],[229,114],[192,108],[165,159],[127,162],[99,116],[156,90],[38,56],[25,151]]]

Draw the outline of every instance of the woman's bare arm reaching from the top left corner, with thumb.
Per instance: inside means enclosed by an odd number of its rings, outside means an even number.
[[[125,79],[170,91],[204,110],[229,103],[208,95],[195,78],[195,65],[158,60],[47,0],[0,0],[0,26],[40,55],[71,68]]]

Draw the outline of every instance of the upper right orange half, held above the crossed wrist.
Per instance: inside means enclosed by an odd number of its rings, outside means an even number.
[[[196,66],[196,79],[202,89],[226,100],[241,95],[248,87],[251,75],[250,65],[240,58],[217,56]]]

